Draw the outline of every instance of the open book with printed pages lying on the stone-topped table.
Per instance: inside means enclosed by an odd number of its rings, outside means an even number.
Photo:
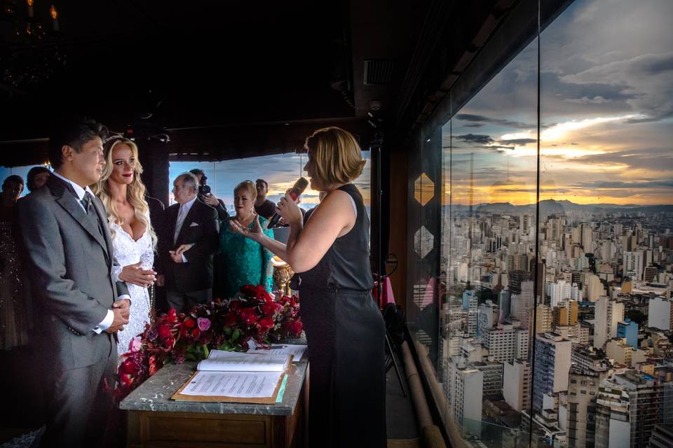
[[[202,360],[173,400],[276,402],[290,355],[258,355],[213,350]]]

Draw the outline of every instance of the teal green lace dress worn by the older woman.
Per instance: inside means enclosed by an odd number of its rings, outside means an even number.
[[[261,228],[266,228],[267,219],[259,217]],[[248,228],[252,229],[253,223]],[[264,235],[273,238],[273,230],[264,230]],[[244,285],[264,285],[271,292],[273,288],[273,253],[257,241],[233,232],[229,225],[223,225],[219,232],[219,248],[224,258],[222,298],[233,297]]]

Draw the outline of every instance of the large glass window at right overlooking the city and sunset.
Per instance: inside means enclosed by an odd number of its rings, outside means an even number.
[[[667,367],[610,359],[627,354],[615,337],[669,356],[657,347],[673,307],[658,298],[673,279],[673,3],[539,7],[539,33],[410,160],[409,279],[413,300],[437,303],[426,318],[439,331],[410,330],[456,445],[602,446],[623,429],[609,416],[639,400],[627,419],[647,429],[630,442],[646,446],[663,418],[654,391],[673,388]],[[435,265],[423,256],[437,241]]]

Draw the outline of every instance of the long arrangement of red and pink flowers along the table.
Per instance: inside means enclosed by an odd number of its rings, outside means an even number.
[[[247,351],[253,339],[261,346],[301,335],[299,301],[296,296],[280,299],[264,286],[246,285],[238,297],[215,299],[193,307],[189,314],[171,309],[154,316],[121,356],[117,400],[123,399],[167,361],[208,358],[210,350]]]

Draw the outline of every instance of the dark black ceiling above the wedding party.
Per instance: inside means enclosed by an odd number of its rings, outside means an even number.
[[[14,12],[0,15],[1,69],[20,72],[55,42],[64,55],[46,79],[0,83],[8,142],[47,137],[64,113],[136,134],[364,123],[372,100],[392,102],[427,2],[71,0],[57,3],[60,32],[31,43],[12,34],[25,1],[2,3]],[[34,10],[48,27],[46,6]],[[389,82],[365,85],[364,59],[392,60]]]

